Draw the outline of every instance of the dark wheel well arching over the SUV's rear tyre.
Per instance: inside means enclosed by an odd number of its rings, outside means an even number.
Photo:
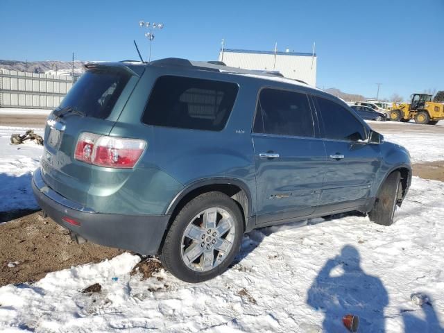
[[[176,216],[179,214],[180,210],[182,210],[182,208],[185,207],[185,205],[187,205],[189,201],[196,198],[196,196],[200,196],[200,194],[212,191],[222,192],[223,194],[232,198],[237,203],[239,209],[241,210],[242,217],[244,218],[244,230],[245,230],[246,223],[248,221],[248,207],[249,207],[248,196],[246,194],[246,191],[244,191],[244,189],[241,189],[241,187],[233,184],[203,185],[197,187],[196,189],[192,189],[187,194],[185,194],[185,196],[180,198],[180,201],[176,204],[173,212],[171,213],[171,217],[168,221],[168,225],[167,228],[165,229],[164,236],[162,238],[162,243],[160,244],[159,249],[162,249],[169,227],[173,223],[174,219],[176,219]]]

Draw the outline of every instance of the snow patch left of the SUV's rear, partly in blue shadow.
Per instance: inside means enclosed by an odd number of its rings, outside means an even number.
[[[26,144],[10,144],[12,134],[24,135],[26,130],[28,128],[0,126],[0,212],[38,208],[31,177],[40,163],[43,147],[30,140]],[[34,130],[43,135],[42,128]]]

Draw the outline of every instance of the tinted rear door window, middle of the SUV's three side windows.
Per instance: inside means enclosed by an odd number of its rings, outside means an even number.
[[[268,88],[261,90],[254,133],[313,137],[313,126],[306,94]]]

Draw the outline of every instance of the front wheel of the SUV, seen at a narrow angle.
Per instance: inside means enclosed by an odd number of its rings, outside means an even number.
[[[393,171],[388,175],[381,189],[379,189],[373,210],[368,213],[370,221],[380,225],[392,225],[398,200],[400,179],[399,171]]]

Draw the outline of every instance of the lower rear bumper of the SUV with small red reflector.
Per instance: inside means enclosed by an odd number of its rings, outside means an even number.
[[[62,227],[103,246],[133,250],[142,255],[156,255],[169,215],[103,214],[68,200],[47,187],[40,173],[34,172],[32,185],[37,203],[42,210]],[[62,218],[74,219],[72,225]]]

